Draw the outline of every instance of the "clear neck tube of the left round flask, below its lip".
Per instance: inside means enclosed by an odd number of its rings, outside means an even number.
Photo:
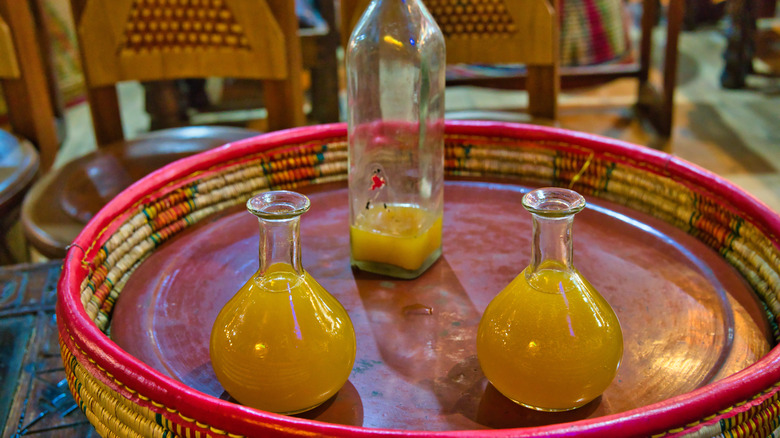
[[[260,275],[265,275],[276,264],[291,266],[296,274],[303,275],[300,217],[258,219],[260,222]]]

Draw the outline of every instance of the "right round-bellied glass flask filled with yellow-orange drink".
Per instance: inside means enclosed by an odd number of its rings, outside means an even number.
[[[533,218],[531,262],[488,304],[477,356],[507,398],[541,411],[566,411],[598,397],[623,356],[620,323],[572,264],[577,192],[542,188],[523,196]]]

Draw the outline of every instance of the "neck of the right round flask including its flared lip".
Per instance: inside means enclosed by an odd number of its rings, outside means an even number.
[[[533,218],[531,263],[526,275],[546,269],[571,271],[572,225],[574,215],[585,208],[585,198],[573,190],[545,187],[523,196],[523,207]]]

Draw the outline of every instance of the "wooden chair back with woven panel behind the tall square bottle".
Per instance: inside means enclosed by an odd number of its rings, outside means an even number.
[[[345,47],[369,3],[341,0]],[[547,0],[504,0],[468,7],[442,0],[425,3],[444,33],[448,64],[525,64],[528,112],[533,117],[556,118],[560,88],[558,19]]]

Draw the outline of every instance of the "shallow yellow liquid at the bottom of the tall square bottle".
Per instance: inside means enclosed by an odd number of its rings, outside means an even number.
[[[416,271],[441,249],[442,218],[427,221],[430,213],[405,205],[378,206],[367,211],[350,227],[352,259],[384,263]]]

